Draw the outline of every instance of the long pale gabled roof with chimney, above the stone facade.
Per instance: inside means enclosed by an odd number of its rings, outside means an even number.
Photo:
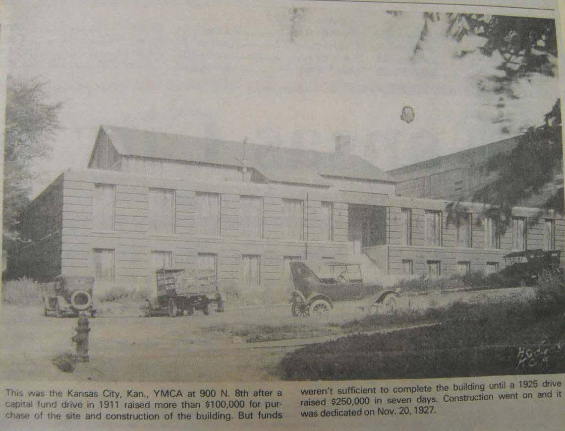
[[[101,126],[101,130],[123,156],[237,167],[244,159],[241,142],[115,126]],[[245,165],[273,182],[329,185],[324,177],[393,182],[388,174],[353,154],[247,143]]]

